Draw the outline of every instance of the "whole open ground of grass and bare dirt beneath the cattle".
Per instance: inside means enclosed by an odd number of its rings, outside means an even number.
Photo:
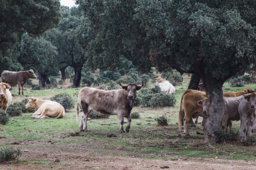
[[[0,165],[0,169],[256,169],[256,146],[244,146],[241,142],[210,145],[203,143],[203,128],[199,124],[189,127],[190,137],[178,131],[180,99],[187,89],[189,77],[182,86],[176,86],[174,107],[134,107],[139,119],[132,119],[129,133],[119,133],[118,117],[91,119],[89,132],[79,132],[75,120],[75,108],[66,112],[62,119],[31,119],[31,113],[11,117],[7,125],[0,125],[0,147],[13,146],[23,150],[18,160]],[[33,80],[36,81],[36,80]],[[68,81],[68,80],[67,80]],[[230,87],[223,91],[242,91],[256,85]],[[18,96],[17,87],[11,93],[13,102],[26,97],[50,99],[53,95],[67,92],[77,104],[81,88],[24,91]],[[151,86],[154,86],[152,83]],[[82,112],[80,112],[81,116]],[[166,115],[169,125],[157,126],[154,118]],[[125,120],[126,121],[126,120]],[[199,119],[202,122],[202,118]],[[126,124],[124,124],[124,128]],[[240,122],[233,122],[233,130],[239,130]],[[113,133],[116,138],[107,138]],[[217,158],[218,157],[218,158]],[[162,167],[162,168],[161,168]]]

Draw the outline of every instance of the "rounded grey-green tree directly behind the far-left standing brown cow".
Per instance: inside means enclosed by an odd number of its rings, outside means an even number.
[[[49,81],[48,72],[56,67],[56,47],[44,37],[33,39],[29,35],[23,36],[23,48],[18,57],[18,61],[25,68],[37,70],[39,85],[45,87]],[[48,82],[49,83],[49,82]]]

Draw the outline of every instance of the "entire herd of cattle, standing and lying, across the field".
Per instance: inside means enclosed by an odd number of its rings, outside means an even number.
[[[10,72],[3,71],[1,74],[0,83],[0,108],[5,112],[10,105],[12,95],[10,93],[10,85],[18,84],[19,95],[20,85],[23,87],[28,78],[36,78],[33,70]],[[156,85],[161,88],[161,91],[166,94],[174,94],[175,88],[173,85],[161,78],[155,78]],[[8,84],[10,85],[8,85]],[[124,133],[123,122],[124,117],[127,118],[128,123],[125,130],[129,132],[131,124],[131,110],[136,99],[136,92],[140,90],[142,85],[129,83],[122,85],[120,90],[99,90],[91,87],[84,87],[80,90],[77,100],[77,121],[79,120],[79,105],[82,108],[82,117],[79,128],[81,131],[88,131],[87,118],[90,112],[97,115],[118,115],[120,123],[120,132]],[[256,91],[252,89],[241,92],[224,92],[224,113],[221,118],[220,127],[224,131],[231,130],[233,120],[241,120],[240,136],[244,141],[250,137],[256,125]],[[180,102],[179,109],[179,130],[182,126],[182,107],[184,110],[184,134],[188,133],[188,123],[193,117],[205,117],[208,113],[210,102],[204,92],[203,83],[200,83],[199,90],[186,90]],[[64,117],[65,110],[58,102],[51,100],[41,100],[40,98],[32,97],[25,105],[27,109],[35,110],[32,118],[61,118]]]

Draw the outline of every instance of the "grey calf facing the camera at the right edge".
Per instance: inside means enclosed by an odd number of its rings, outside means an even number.
[[[254,90],[252,90],[255,92]],[[240,100],[238,106],[238,112],[241,119],[241,132],[240,137],[242,141],[246,140],[246,136],[250,137],[254,131],[254,126],[256,125],[256,93],[246,94]]]

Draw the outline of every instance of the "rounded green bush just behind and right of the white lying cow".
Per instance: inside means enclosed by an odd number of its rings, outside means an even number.
[[[172,85],[182,85],[182,75],[177,70],[161,72],[161,77],[165,78]]]

